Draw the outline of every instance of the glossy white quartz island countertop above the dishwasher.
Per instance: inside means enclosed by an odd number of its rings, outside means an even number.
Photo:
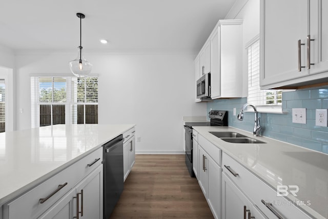
[[[0,207],[132,127],[54,125],[0,133]]]

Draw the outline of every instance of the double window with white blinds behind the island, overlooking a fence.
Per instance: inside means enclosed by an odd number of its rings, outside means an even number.
[[[98,123],[98,77],[31,77],[32,127]]]

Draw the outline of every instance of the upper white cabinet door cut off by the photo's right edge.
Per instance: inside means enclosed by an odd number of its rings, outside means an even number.
[[[310,74],[328,71],[328,2],[310,1],[311,66]]]

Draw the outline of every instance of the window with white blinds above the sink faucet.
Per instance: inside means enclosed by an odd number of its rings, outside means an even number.
[[[247,45],[248,54],[248,97],[247,102],[259,111],[280,111],[282,90],[260,89],[260,43],[258,36]]]

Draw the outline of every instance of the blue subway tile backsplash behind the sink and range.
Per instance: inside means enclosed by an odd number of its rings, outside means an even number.
[[[216,99],[207,103],[207,112],[213,110],[229,111],[229,126],[253,131],[254,113],[245,112],[244,120],[233,116],[247,103],[247,97]],[[292,123],[292,108],[306,108],[306,124]],[[328,127],[315,125],[316,109],[328,109],[328,87],[303,89],[282,93],[282,110],[287,114],[259,113],[261,135],[288,142],[301,147],[328,154]]]

